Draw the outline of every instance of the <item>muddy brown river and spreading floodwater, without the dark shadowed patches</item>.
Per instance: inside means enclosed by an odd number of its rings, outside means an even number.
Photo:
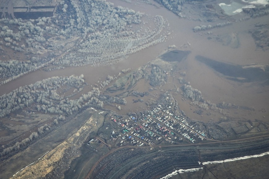
[[[207,37],[210,36],[206,34],[207,31],[194,33],[192,30],[193,27],[197,25],[208,25],[211,23],[181,19],[155,2],[152,3],[156,6],[143,4],[142,2],[140,2],[140,4],[131,4],[119,0],[112,0],[110,2],[113,2],[114,6],[128,7],[136,11],[144,12],[145,14],[162,15],[164,19],[168,21],[170,28],[170,30],[166,29],[165,31],[169,31],[171,35],[169,35],[165,42],[132,54],[126,60],[115,65],[104,67],[91,67],[90,65],[87,65],[83,67],[70,67],[63,70],[55,70],[53,72],[44,72],[40,70],[32,72],[0,86],[0,95],[8,93],[19,86],[29,85],[48,77],[70,76],[72,74],[84,74],[85,81],[90,85],[86,86],[80,94],[87,93],[92,90],[92,86],[96,84],[96,81],[99,79],[104,81],[107,75],[117,75],[122,69],[139,68],[148,61],[155,59],[167,49],[169,45],[176,45],[180,50],[189,50],[191,52],[185,60],[180,62],[180,66],[181,69],[186,71],[186,77],[184,77],[186,81],[189,81],[193,88],[200,90],[206,101],[210,100],[213,103],[222,103],[224,101],[239,106],[254,107],[256,109],[255,112],[250,114],[250,117],[253,118],[253,120],[267,119],[269,116],[268,85],[262,86],[256,82],[241,83],[228,80],[216,73],[211,67],[196,60],[195,57],[200,55],[219,62],[237,65],[248,65],[252,63],[268,64],[269,52],[257,51],[255,42],[251,37],[251,34],[248,33],[248,30],[253,29],[254,24],[268,24],[268,16],[233,23],[232,26],[210,29],[213,35],[237,33],[241,45],[239,48],[234,49],[229,46],[223,46],[220,42],[207,40]],[[235,15],[234,17],[242,18],[240,14]],[[139,86],[138,84],[136,85],[136,88],[142,88],[142,85]],[[186,105],[186,102],[182,102],[179,97],[177,101],[179,102],[179,106],[188,106]],[[132,103],[132,101],[127,100],[127,105],[128,103]],[[138,107],[139,103],[135,103],[135,105]],[[126,106],[123,109],[126,109],[126,111],[122,110],[121,113],[127,113],[129,112],[130,107]],[[260,109],[265,109],[266,112],[261,113],[259,112]],[[186,112],[186,115],[192,117],[194,114],[191,112],[188,114],[188,112]],[[263,116],[265,118],[263,118]]]

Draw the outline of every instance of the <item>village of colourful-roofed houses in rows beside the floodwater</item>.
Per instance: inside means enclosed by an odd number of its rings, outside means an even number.
[[[164,108],[161,105],[145,112],[143,118],[133,116],[111,116],[110,120],[122,127],[119,131],[112,131],[110,138],[120,138],[118,146],[153,146],[162,141],[171,144],[199,143],[208,139],[207,131],[199,128],[194,121],[185,119],[181,114],[174,113],[172,107]]]

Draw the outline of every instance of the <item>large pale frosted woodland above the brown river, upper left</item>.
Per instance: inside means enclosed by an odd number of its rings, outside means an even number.
[[[148,23],[152,27],[148,27]],[[138,27],[133,27],[134,24]],[[12,48],[28,54],[44,54],[62,50],[62,39],[73,41],[76,36],[81,40],[75,42],[75,49],[69,49],[59,60],[55,58],[53,63],[48,63],[55,56],[41,60],[45,65],[53,65],[47,70],[88,64],[111,65],[164,41],[167,34],[161,33],[165,25],[161,16],[147,16],[102,0],[61,1],[53,17],[0,19],[0,51]],[[61,37],[61,42],[51,38],[57,36]],[[0,78],[8,78],[3,83],[45,66],[32,59],[0,63]]]

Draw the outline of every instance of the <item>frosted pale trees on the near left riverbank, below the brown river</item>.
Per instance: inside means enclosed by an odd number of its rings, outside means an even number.
[[[58,117],[54,119],[51,125],[45,124],[40,126],[36,133],[33,132],[28,138],[18,141],[15,144],[2,146],[0,149],[1,159],[6,159],[6,157],[23,150],[33,140],[51,131],[53,126],[58,126],[59,123],[65,123],[66,118],[85,108],[94,107],[101,109],[104,104],[126,104],[125,98],[102,95],[98,88],[93,88],[90,92],[82,94],[75,100],[70,100],[58,92],[60,88],[73,87],[75,89],[81,89],[84,85],[86,83],[84,82],[83,75],[51,77],[37,81],[31,85],[20,87],[8,94],[0,96],[0,117],[27,108],[37,113],[58,114]]]

